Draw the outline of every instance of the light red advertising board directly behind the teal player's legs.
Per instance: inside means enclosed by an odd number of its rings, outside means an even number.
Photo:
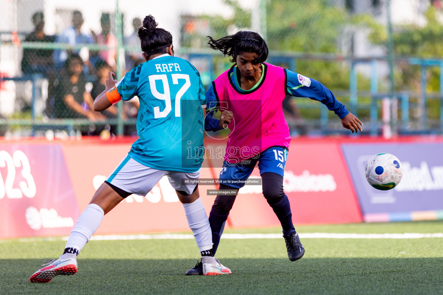
[[[130,139],[113,142],[97,141],[93,145],[67,142],[64,145],[66,165],[80,211],[88,206],[96,189],[126,157],[132,141]],[[212,177],[209,168],[202,168],[201,177]],[[214,189],[214,187],[208,188]],[[200,192],[209,214],[214,197],[206,198],[202,189]],[[106,214],[96,234],[184,230],[189,230],[189,227],[183,205],[169,184],[167,176],[164,176],[146,197],[131,195]]]

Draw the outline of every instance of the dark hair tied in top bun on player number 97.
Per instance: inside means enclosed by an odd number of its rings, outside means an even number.
[[[148,58],[152,54],[167,53],[167,47],[172,45],[172,35],[165,29],[157,28],[158,23],[152,15],[143,20],[143,26],[139,28],[138,36],[141,42],[141,50]]]

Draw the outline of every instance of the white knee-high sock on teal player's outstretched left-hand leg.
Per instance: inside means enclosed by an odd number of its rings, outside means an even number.
[[[97,204],[89,204],[78,217],[66,242],[65,253],[60,258],[75,258],[97,230],[105,212]],[[68,249],[68,250],[66,250]]]

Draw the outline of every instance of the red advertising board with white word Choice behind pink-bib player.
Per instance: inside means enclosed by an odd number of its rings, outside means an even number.
[[[260,177],[255,168],[251,177]],[[292,140],[284,172],[284,192],[295,224],[361,222],[358,202],[335,142]],[[261,186],[239,191],[229,215],[234,227],[280,226]]]

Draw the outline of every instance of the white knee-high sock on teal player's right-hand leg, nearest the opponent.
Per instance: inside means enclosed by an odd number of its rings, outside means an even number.
[[[186,218],[200,251],[212,249],[212,233],[205,207],[200,198],[192,203],[183,204]]]

